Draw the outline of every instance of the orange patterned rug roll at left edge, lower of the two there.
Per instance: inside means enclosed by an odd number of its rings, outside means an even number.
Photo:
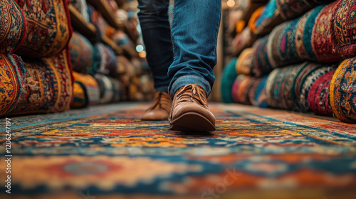
[[[23,61],[17,55],[0,54],[0,117],[9,114],[23,92]]]

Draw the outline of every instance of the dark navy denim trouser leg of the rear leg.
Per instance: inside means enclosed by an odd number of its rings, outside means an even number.
[[[147,62],[155,82],[155,90],[168,92],[171,77],[167,75],[173,62],[171,31],[168,21],[169,0],[138,0],[142,37],[147,49]]]

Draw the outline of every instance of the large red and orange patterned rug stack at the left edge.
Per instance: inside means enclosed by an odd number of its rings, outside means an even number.
[[[9,0],[0,9],[0,117],[69,109],[67,1]]]

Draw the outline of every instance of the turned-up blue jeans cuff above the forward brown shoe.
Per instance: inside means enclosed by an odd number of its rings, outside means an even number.
[[[174,81],[169,91],[169,95],[171,99],[173,99],[174,94],[179,90],[179,88],[184,87],[185,85],[200,85],[201,87],[204,88],[206,97],[209,97],[210,95],[211,87],[208,81],[196,75],[185,75],[179,77],[177,80]]]

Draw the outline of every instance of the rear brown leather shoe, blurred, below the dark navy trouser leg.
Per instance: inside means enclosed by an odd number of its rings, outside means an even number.
[[[156,92],[155,100],[152,105],[146,110],[141,120],[146,121],[162,121],[168,120],[168,116],[172,107],[172,100],[167,92]]]

